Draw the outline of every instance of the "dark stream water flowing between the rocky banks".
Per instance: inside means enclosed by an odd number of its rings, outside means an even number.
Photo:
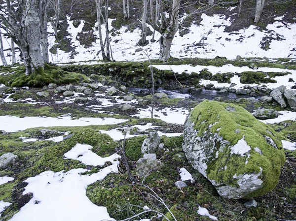
[[[145,88],[130,88],[131,92],[138,95],[138,96],[146,96],[150,95],[150,91]],[[158,92],[163,92],[168,95],[169,98],[189,98],[192,100],[196,99],[208,99],[208,100],[214,100],[216,97],[223,97],[223,99],[231,99],[235,100],[240,97],[243,98],[248,98],[250,96],[248,95],[236,95],[234,93],[222,93],[219,94],[215,90],[202,90],[202,91],[194,91],[193,93],[190,94],[183,94],[182,91],[178,90],[160,90],[160,91],[155,91],[155,93]],[[259,96],[255,97],[259,99]]]

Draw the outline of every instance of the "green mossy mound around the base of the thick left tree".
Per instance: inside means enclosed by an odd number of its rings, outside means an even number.
[[[0,83],[10,87],[43,87],[50,83],[57,85],[67,83],[77,83],[86,80],[86,76],[75,72],[62,70],[60,67],[51,66],[45,63],[44,67],[39,67],[34,73],[26,75],[25,67],[0,69],[7,74],[0,75]]]

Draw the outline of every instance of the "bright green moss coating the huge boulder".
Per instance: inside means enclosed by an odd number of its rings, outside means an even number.
[[[235,111],[227,111],[227,107]],[[280,168],[285,163],[285,152],[281,143],[282,135],[258,121],[242,107],[234,104],[203,101],[191,111],[190,119],[194,121],[195,129],[198,130],[197,136],[202,136],[209,129],[209,125],[212,125],[210,128],[212,133],[218,133],[224,140],[229,141],[229,147],[235,145],[242,138],[251,147],[251,156],[248,158],[247,164],[245,164],[247,157],[230,154],[230,148],[219,151],[219,160],[212,159],[207,165],[207,176],[210,179],[226,185],[235,185],[235,183],[229,183],[235,174],[259,173],[261,167],[263,168],[261,180],[264,182],[264,187],[247,197],[261,195],[262,192],[265,193],[277,185]],[[278,149],[267,144],[264,135],[270,137]],[[259,147],[262,155],[254,150],[256,147]],[[272,159],[272,163],[270,159]],[[227,168],[222,170],[224,165],[227,165]]]

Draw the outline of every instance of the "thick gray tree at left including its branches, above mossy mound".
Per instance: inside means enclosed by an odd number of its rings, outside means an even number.
[[[2,29],[7,32],[19,46],[26,68],[26,75],[35,72],[38,67],[44,67],[41,51],[41,24],[45,7],[40,7],[46,0],[2,0],[0,17]]]

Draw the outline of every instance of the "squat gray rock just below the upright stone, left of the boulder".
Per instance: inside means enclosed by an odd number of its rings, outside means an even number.
[[[160,170],[164,164],[159,160],[140,158],[136,164],[136,174],[140,178],[144,178],[152,171]]]

